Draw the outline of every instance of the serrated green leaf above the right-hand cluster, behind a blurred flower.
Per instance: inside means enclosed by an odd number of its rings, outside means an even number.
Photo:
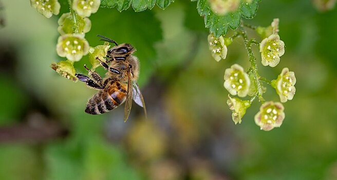
[[[197,9],[200,16],[204,17],[205,27],[209,28],[211,33],[218,38],[220,35],[225,35],[228,28],[236,29],[240,25],[241,16],[246,19],[252,19],[258,9],[260,0],[253,0],[248,4],[242,2],[239,9],[225,15],[215,14],[207,0],[198,0]]]

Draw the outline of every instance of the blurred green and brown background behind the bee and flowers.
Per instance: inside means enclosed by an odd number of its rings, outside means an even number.
[[[264,67],[254,48],[259,71],[274,79],[289,67],[297,79],[282,127],[264,132],[254,123],[259,102],[237,125],[226,104],[224,69],[249,67],[242,39],[226,60],[214,61],[196,2],[138,13],[100,8],[89,17],[91,46],[102,44],[102,34],[137,48],[149,118],[134,104],[126,123],[123,106],[85,114],[96,91],[49,67],[63,60],[55,51],[58,16],[46,19],[29,1],[2,3],[0,179],[337,179],[337,8],[262,1],[246,20],[268,26],[280,19],[285,55],[275,68]],[[86,73],[83,64],[87,58],[75,65]],[[265,98],[278,101],[270,86]]]

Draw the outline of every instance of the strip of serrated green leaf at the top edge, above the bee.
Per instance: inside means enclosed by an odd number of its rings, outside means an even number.
[[[136,12],[140,12],[146,9],[152,9],[156,3],[158,7],[165,9],[173,2],[174,0],[102,0],[101,7],[116,7],[121,12],[132,5]]]

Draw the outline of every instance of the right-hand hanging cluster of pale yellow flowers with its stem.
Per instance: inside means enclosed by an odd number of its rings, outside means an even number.
[[[247,1],[247,3],[249,3]],[[227,46],[229,46],[236,37],[244,38],[244,42],[248,51],[251,66],[247,69],[247,73],[243,67],[238,64],[232,65],[224,72],[224,88],[227,89],[231,97],[228,95],[227,104],[232,112],[232,119],[235,124],[241,123],[242,117],[246,114],[247,109],[251,103],[258,99],[262,105],[260,111],[255,115],[255,123],[261,130],[270,131],[275,127],[280,127],[285,118],[284,106],[282,103],[291,100],[294,97],[296,88],[296,78],[294,72],[284,68],[282,73],[273,81],[269,81],[261,77],[257,71],[256,58],[253,55],[251,46],[253,44],[259,45],[259,52],[261,53],[261,64],[264,66],[275,67],[280,62],[280,57],[285,53],[285,43],[280,40],[278,32],[279,20],[274,19],[268,27],[254,27],[246,24],[241,26],[255,29],[261,35],[263,40],[258,43],[255,39],[249,40],[247,32],[241,28],[235,32],[230,38],[214,37],[213,34],[208,36],[209,48],[212,56],[216,61],[225,59],[227,55]],[[276,93],[280,98],[280,102],[265,101],[263,94],[267,88],[263,85],[267,83],[276,89]],[[246,96],[251,96],[250,100],[243,100]]]

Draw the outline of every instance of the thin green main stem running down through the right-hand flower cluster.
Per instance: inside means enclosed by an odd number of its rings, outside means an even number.
[[[255,58],[253,50],[252,50],[252,41],[248,40],[247,32],[244,29],[244,25],[240,26],[239,33],[241,34],[242,38],[244,39],[245,46],[246,46],[246,49],[247,49],[247,52],[248,52],[249,61],[251,63],[250,68],[252,69],[251,73],[254,74],[254,81],[255,81],[255,84],[256,84],[256,88],[257,88],[258,100],[263,103],[265,101],[265,99],[262,97],[262,94],[263,94],[262,85],[261,85],[261,82],[260,82],[260,75],[257,72],[256,58]]]

